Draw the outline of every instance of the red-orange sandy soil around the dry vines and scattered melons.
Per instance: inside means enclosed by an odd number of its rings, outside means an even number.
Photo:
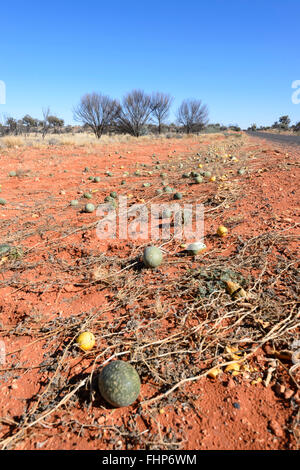
[[[198,152],[213,152],[214,146],[226,146],[230,139],[240,140],[236,153],[234,146],[229,151],[238,156],[238,162],[230,158],[223,162],[220,157],[221,164],[215,170],[216,182],[189,186],[181,178],[186,162],[191,162],[189,158],[195,157],[194,167],[189,166],[189,170],[197,170],[198,163],[203,161]],[[97,387],[92,389],[92,394],[86,387],[74,394],[72,390],[93,367],[96,376],[101,364],[114,352],[130,352],[130,332],[124,330],[121,334],[116,329],[123,343],[119,342],[114,350],[110,339],[101,336],[101,325],[107,328],[110,322],[122,324],[122,319],[130,318],[132,312],[143,319],[144,311],[152,308],[158,283],[167,286],[198,263],[190,258],[172,263],[181,250],[179,243],[173,241],[158,271],[142,270],[135,274],[139,285],[153,286],[153,297],[138,301],[128,298],[123,308],[116,310],[113,287],[109,282],[99,287],[93,278],[97,256],[100,260],[102,254],[110,256],[121,270],[122,262],[130,264],[142,254],[145,241],[99,240],[95,231],[97,217],[95,213],[81,212],[84,204],[101,203],[112,190],[131,194],[133,202],[147,202],[155,196],[155,189],[161,187],[159,175],[164,171],[169,174],[169,184],[182,192],[184,198],[207,200],[217,190],[222,191],[220,185],[225,185],[225,194],[237,196],[232,201],[229,198],[225,207],[223,204],[220,211],[216,210],[205,220],[207,252],[216,250],[226,257],[241,239],[276,231],[291,236],[286,249],[290,261],[295,262],[294,236],[299,234],[299,156],[297,147],[223,135],[207,139],[137,140],[89,148],[1,150],[0,197],[7,204],[0,206],[0,242],[22,247],[24,256],[4,259],[0,265],[0,339],[6,348],[6,361],[0,363],[0,448],[296,449],[299,377],[297,370],[291,377],[292,364],[284,355],[278,355],[276,372],[265,385],[270,360],[274,362],[272,342],[258,347],[249,358],[248,374],[232,376],[223,369],[215,379],[204,375],[183,383],[153,405],[143,402],[167,392],[178,382],[170,379],[169,372],[172,374],[174,367],[172,356],[168,363],[170,371],[165,365],[151,363],[157,367],[157,379],[155,370],[150,378],[141,372],[140,396],[127,408],[108,406]],[[160,169],[155,169],[156,161],[160,162]],[[141,167],[141,163],[147,167]],[[183,168],[178,169],[180,163]],[[223,174],[228,175],[226,181],[220,180],[222,165]],[[83,171],[85,167],[89,167],[89,172]],[[133,175],[137,167],[144,176]],[[241,167],[246,168],[246,173],[237,175]],[[203,168],[212,167],[203,161]],[[17,171],[16,177],[8,176],[12,170]],[[113,176],[106,176],[107,170]],[[149,170],[153,170],[152,175],[146,175]],[[125,171],[130,173],[127,178],[122,176]],[[100,183],[89,181],[90,175],[100,176]],[[123,179],[126,185],[120,185]],[[144,188],[144,181],[152,186]],[[88,190],[97,190],[92,201],[82,198]],[[72,199],[78,199],[79,206],[70,207]],[[216,200],[216,206],[222,201],[222,198]],[[224,240],[215,236],[220,224],[229,228]],[[89,259],[91,266],[86,262]],[[109,274],[109,265],[103,269]],[[126,270],[123,273],[125,285],[130,279],[130,269],[128,274]],[[174,324],[170,315],[176,313],[176,305],[181,305],[180,299],[171,294],[170,291],[169,298],[163,299],[170,312],[167,318],[162,314],[161,331],[157,333],[160,338],[172,334]],[[74,344],[70,346],[70,341],[91,315],[98,322],[88,324],[95,333],[96,346],[84,353]],[[77,330],[72,329],[71,318],[77,322]],[[299,339],[296,330],[293,335]],[[139,367],[134,352],[130,357]],[[186,367],[182,378],[195,372],[197,375],[198,365],[191,366],[189,356],[181,357],[178,360]],[[120,354],[119,359],[127,360],[128,356]],[[199,364],[201,373],[205,370],[201,358]]]

